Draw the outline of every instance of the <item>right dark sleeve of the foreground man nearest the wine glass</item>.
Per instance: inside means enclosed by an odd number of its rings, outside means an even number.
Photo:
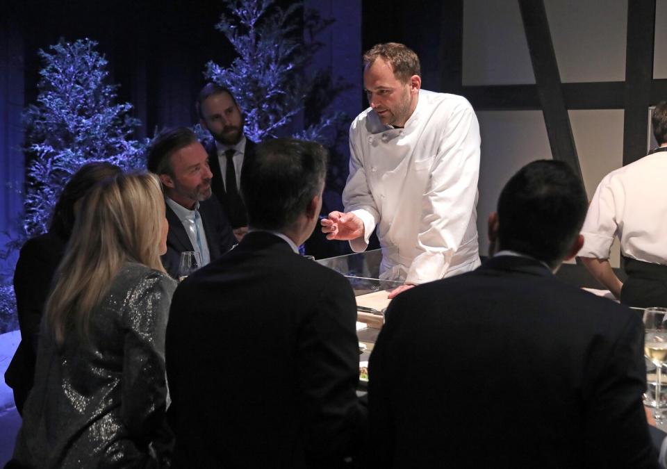
[[[646,387],[644,330],[639,318],[627,318],[615,343],[605,347],[604,341],[611,340],[600,334],[587,357],[602,366],[595,372],[588,368],[594,375],[583,390],[586,467],[658,467],[641,400]]]

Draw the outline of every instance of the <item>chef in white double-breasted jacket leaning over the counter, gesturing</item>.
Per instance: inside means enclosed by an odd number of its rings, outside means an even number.
[[[479,266],[479,125],[468,101],[421,90],[418,56],[377,44],[363,56],[370,108],[349,129],[345,213],[322,220],[328,239],[368,246],[377,227],[381,278],[411,286]]]

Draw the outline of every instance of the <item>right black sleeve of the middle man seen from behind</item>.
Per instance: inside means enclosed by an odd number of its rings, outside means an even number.
[[[352,455],[365,427],[365,412],[356,397],[359,342],[354,293],[344,277],[329,277],[322,282],[313,315],[299,331],[297,353],[306,409],[304,447],[314,467]]]

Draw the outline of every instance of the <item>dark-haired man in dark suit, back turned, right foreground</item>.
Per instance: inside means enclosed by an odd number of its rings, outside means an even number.
[[[657,467],[641,318],[552,273],[586,206],[567,165],[530,163],[489,220],[495,256],[393,300],[370,357],[371,466]]]

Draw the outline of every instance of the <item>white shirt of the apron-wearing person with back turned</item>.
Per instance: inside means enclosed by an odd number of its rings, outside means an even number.
[[[667,264],[667,152],[644,156],[604,176],[588,206],[577,254],[609,258],[614,237],[623,256]]]

